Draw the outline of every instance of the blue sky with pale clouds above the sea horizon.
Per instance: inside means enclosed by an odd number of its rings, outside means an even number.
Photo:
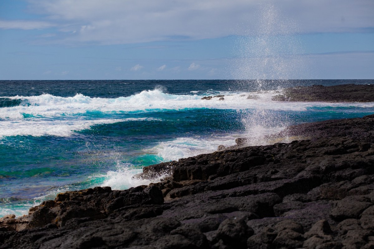
[[[0,0],[0,80],[374,79],[374,0]]]

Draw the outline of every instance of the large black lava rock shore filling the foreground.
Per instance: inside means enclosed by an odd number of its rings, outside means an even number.
[[[344,129],[343,129],[343,128]],[[374,115],[310,139],[151,165],[128,190],[58,194],[0,219],[0,248],[374,248]]]

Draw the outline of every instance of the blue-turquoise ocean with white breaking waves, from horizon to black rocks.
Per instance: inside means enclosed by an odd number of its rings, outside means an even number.
[[[288,125],[374,113],[374,102],[272,101],[313,84],[374,80],[0,81],[0,217],[69,190],[149,184],[133,178],[144,166],[238,137],[261,145]]]

